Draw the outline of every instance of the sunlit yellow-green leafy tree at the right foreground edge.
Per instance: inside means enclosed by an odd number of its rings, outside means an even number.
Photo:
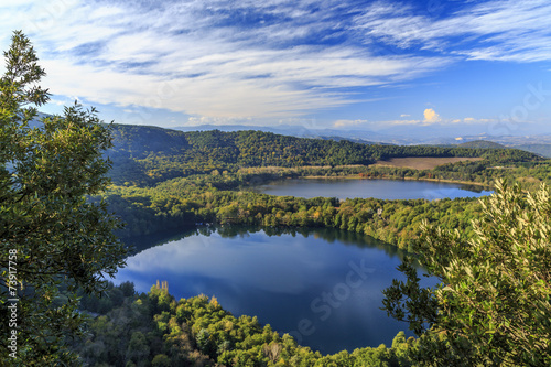
[[[428,224],[414,250],[429,274],[422,289],[411,261],[407,282],[385,291],[387,312],[410,322],[423,365],[551,365],[551,199],[503,182],[473,223],[475,238]],[[429,330],[425,330],[425,326]]]

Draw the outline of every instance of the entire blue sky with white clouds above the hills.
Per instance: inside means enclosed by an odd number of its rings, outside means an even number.
[[[0,1],[0,46],[31,37],[47,112],[551,133],[550,20],[549,0],[19,0]]]

